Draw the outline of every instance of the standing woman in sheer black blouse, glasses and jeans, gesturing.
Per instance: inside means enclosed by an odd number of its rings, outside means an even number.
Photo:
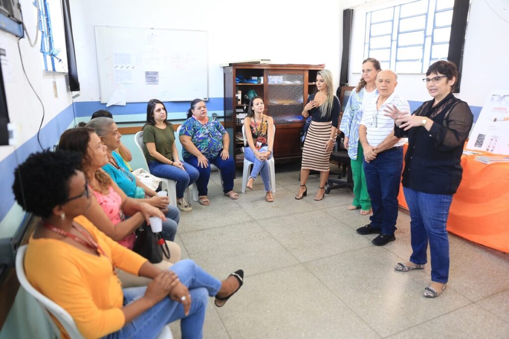
[[[449,239],[446,222],[449,207],[460,185],[463,145],[472,127],[468,104],[453,95],[458,79],[456,65],[437,61],[426,72],[426,101],[412,115],[397,108],[386,116],[395,121],[394,135],[408,136],[403,171],[403,191],[410,209],[412,255],[398,263],[397,271],[423,269],[431,252],[431,284],[424,296],[435,298],[445,289],[449,277]]]

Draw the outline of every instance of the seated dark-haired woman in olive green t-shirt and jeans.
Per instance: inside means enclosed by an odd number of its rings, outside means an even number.
[[[143,126],[145,158],[151,174],[177,182],[177,207],[181,211],[190,211],[191,206],[184,199],[184,191],[200,174],[196,168],[179,160],[175,131],[166,117],[164,104],[157,99],[150,100],[147,104],[147,122]]]

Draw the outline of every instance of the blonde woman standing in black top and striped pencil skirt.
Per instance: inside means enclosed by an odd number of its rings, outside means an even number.
[[[302,116],[311,117],[311,124],[304,139],[302,166],[300,168],[300,189],[295,199],[307,195],[306,181],[309,171],[320,171],[320,186],[315,195],[319,201],[325,195],[325,183],[329,176],[329,158],[336,140],[340,101],[333,93],[332,74],[329,70],[317,74],[318,92],[309,96]]]

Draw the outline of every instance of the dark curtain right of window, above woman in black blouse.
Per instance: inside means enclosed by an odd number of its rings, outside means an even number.
[[[467,18],[469,0],[455,0],[453,9],[453,21],[450,26],[449,53],[447,60],[458,67],[458,79],[454,93],[460,92],[461,71],[463,68],[463,48],[465,47],[465,33],[467,31]]]

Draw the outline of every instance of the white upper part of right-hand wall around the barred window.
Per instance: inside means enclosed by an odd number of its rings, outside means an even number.
[[[408,2],[408,1],[404,1]],[[359,5],[350,1],[343,8]],[[363,55],[365,12],[393,6],[394,1],[371,1],[354,8],[349,82],[356,86],[360,79]],[[400,1],[401,3],[401,1]],[[509,84],[502,74],[507,65],[509,39],[505,38],[509,23],[492,12],[485,1],[473,0],[467,26],[463,54],[461,92],[457,95],[471,106],[483,106],[492,90],[507,90]],[[398,91],[408,100],[426,101],[430,96],[421,79],[425,74],[399,74]]]

